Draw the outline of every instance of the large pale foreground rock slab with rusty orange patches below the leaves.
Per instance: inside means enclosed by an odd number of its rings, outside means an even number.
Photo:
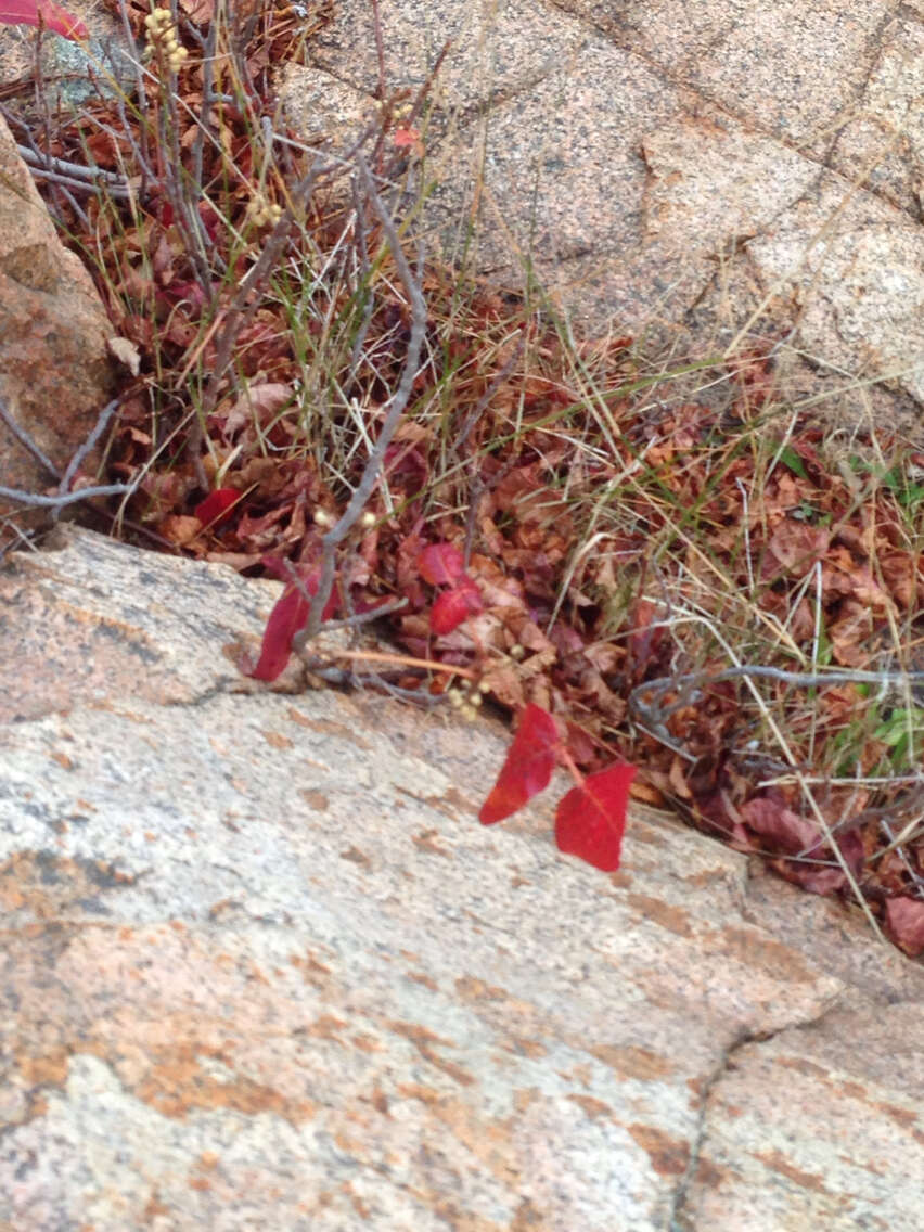
[[[480,827],[499,724],[235,673],[277,593],[0,574],[2,1232],[920,1227],[919,965],[650,811]]]

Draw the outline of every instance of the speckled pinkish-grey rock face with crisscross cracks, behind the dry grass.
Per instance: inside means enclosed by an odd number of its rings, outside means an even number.
[[[734,351],[742,330],[787,338],[784,395],[924,440],[919,2],[378,9],[389,90],[420,89],[452,39],[428,133],[444,255],[471,255],[477,201],[477,267],[522,281],[529,259],[591,333],[678,354]],[[334,79],[356,99],[377,90],[372,14],[336,0],[308,65],[285,71],[306,133],[328,112],[339,131]]]

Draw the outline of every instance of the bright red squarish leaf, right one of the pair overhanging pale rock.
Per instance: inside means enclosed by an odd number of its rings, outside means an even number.
[[[572,787],[556,811],[558,850],[604,872],[615,872],[634,776],[634,766],[615,765],[588,775],[580,787]]]

